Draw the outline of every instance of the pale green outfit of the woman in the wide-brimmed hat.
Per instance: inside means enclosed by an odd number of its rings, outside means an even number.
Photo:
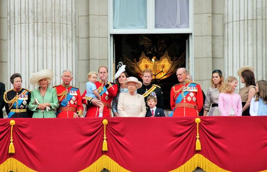
[[[37,99],[40,104],[50,103],[50,110],[46,111],[45,109],[44,112],[41,112],[41,110],[37,109],[38,104],[35,102],[35,99]],[[41,96],[39,88],[32,91],[31,101],[29,103],[29,110],[34,112],[33,117],[56,117],[55,112],[58,107],[59,104],[55,88],[47,87],[46,93],[43,97]]]

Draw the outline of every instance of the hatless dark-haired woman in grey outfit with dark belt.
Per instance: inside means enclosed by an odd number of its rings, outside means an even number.
[[[209,112],[209,116],[220,116],[221,113],[218,108],[219,89],[224,84],[224,76],[221,70],[216,69],[212,72],[211,87],[206,94],[206,100],[203,106],[204,116]],[[210,109],[211,106],[211,109]]]

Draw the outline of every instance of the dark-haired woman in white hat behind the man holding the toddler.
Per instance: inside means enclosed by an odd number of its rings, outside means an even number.
[[[112,112],[114,116],[118,117],[117,105],[118,105],[118,98],[119,94],[122,92],[128,92],[128,89],[123,86],[123,83],[127,81],[128,74],[125,72],[125,65],[122,65],[119,70],[116,72],[114,79],[116,80],[116,85],[118,86],[118,92],[116,97],[114,97],[112,101]]]

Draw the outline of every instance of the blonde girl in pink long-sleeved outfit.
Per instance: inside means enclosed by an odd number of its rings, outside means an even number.
[[[225,84],[220,88],[218,106],[222,116],[242,115],[241,97],[235,93],[237,82],[235,77],[229,76]]]

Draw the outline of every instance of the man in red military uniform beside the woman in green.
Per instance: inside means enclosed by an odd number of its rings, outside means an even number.
[[[61,79],[63,83],[59,86],[54,86],[57,90],[59,103],[56,116],[80,117],[83,112],[83,106],[79,89],[70,85],[73,80],[72,72],[64,70]]]

